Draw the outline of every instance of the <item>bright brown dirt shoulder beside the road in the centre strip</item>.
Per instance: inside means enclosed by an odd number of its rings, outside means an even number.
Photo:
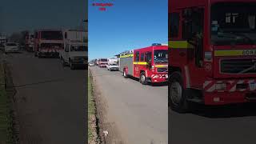
[[[97,84],[97,78],[92,70],[90,70],[92,77],[93,94],[96,105],[96,116],[98,125],[98,135],[101,143],[103,144],[124,144],[120,131],[114,122],[109,121],[108,104],[106,98],[102,95],[102,90],[100,90]]]

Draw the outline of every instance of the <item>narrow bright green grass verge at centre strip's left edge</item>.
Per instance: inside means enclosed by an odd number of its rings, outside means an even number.
[[[91,84],[90,75],[88,75],[88,119],[90,118],[90,115],[95,114],[95,107],[94,107],[94,98],[93,98],[93,87]],[[90,120],[90,119],[89,119]],[[88,121],[88,139],[89,141],[93,138],[92,134],[92,127],[89,124]]]

